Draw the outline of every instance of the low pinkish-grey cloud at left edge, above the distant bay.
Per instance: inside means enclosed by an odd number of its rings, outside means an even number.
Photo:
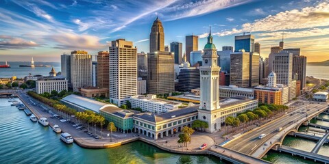
[[[0,50],[10,49],[31,49],[36,46],[40,46],[36,42],[26,41],[22,38],[14,38],[12,36],[0,36]]]

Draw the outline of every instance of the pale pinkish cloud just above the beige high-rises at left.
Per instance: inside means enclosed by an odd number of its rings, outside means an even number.
[[[51,40],[55,42],[55,49],[101,49],[105,44],[99,43],[97,36],[76,34],[76,33],[56,33],[49,36],[45,36],[45,40]]]

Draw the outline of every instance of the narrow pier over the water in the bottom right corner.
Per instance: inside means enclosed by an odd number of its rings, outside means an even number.
[[[323,163],[329,163],[329,157],[328,156],[323,156],[323,155],[319,155],[319,154],[315,154],[312,152],[305,152],[303,150],[298,150],[295,148],[290,148],[289,146],[280,146],[280,148],[278,148],[278,150],[280,152],[287,152],[291,155],[297,155],[297,156],[302,156],[304,157],[304,159],[313,159],[315,162],[319,161],[319,162],[323,162]]]

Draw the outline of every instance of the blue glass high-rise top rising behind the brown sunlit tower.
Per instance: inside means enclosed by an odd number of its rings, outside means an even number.
[[[235,36],[235,52],[239,52],[239,50],[244,49],[245,52],[254,52],[254,43],[255,43],[255,37],[251,34],[245,35],[243,33],[243,36]]]

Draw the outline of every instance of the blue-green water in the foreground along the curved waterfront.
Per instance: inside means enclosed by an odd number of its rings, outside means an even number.
[[[223,163],[213,156],[170,154],[141,141],[97,150],[67,145],[10,103],[0,98],[0,163]]]

